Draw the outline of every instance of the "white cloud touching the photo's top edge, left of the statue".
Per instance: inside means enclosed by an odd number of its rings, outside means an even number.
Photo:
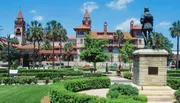
[[[128,3],[133,2],[134,0],[113,0],[112,2],[106,4],[108,7],[113,8],[113,9],[124,9],[127,7]]]

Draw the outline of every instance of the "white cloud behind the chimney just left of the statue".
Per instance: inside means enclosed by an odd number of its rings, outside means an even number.
[[[129,31],[130,30],[130,22],[134,21],[134,25],[140,25],[140,20],[137,18],[130,18],[127,19],[126,21],[122,22],[121,24],[116,26],[116,29],[120,29],[122,31]]]

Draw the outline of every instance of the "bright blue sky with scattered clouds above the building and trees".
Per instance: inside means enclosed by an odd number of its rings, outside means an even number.
[[[92,20],[92,31],[103,30],[108,23],[108,31],[122,29],[128,31],[129,21],[139,25],[144,7],[148,6],[154,16],[154,29],[163,33],[176,49],[176,39],[170,37],[169,27],[180,19],[180,0],[1,0],[0,36],[13,34],[14,20],[21,7],[27,23],[38,20],[43,26],[50,20],[60,22],[69,36],[75,36],[73,28],[81,25],[83,11],[88,8]]]

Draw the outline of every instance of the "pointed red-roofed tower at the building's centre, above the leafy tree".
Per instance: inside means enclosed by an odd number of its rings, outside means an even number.
[[[82,25],[91,27],[91,19],[90,19],[89,12],[87,9],[84,14],[84,18],[82,20]]]

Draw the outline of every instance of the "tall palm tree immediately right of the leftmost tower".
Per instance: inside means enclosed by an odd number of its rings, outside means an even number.
[[[38,42],[38,49],[40,47],[40,40],[42,40],[43,35],[43,27],[41,23],[37,21],[31,21],[31,25],[28,25],[29,28],[27,29],[28,33],[28,40],[33,42],[34,50],[33,50],[33,68],[35,68],[35,46],[36,42]]]

